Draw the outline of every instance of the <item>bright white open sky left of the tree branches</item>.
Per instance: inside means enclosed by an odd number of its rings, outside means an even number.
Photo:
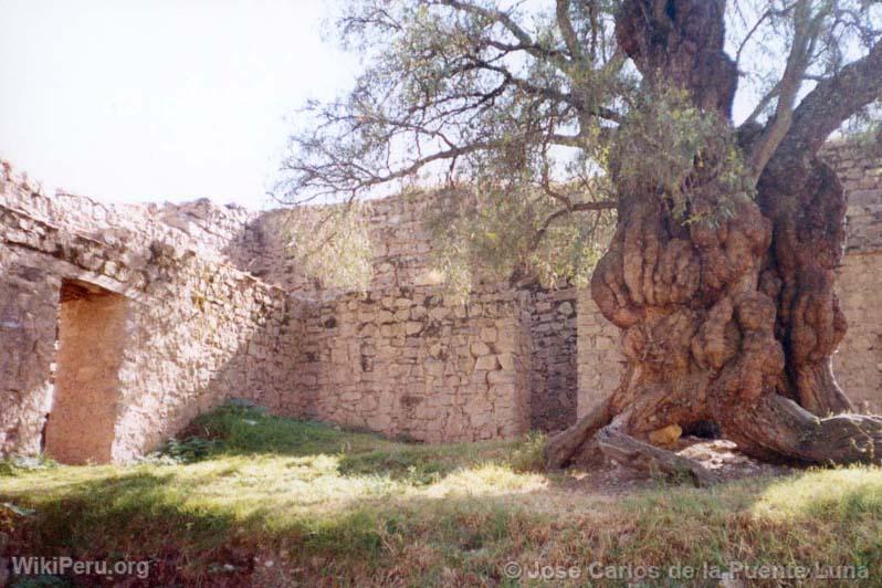
[[[270,206],[296,109],[348,88],[317,0],[0,0],[0,158],[113,202]]]

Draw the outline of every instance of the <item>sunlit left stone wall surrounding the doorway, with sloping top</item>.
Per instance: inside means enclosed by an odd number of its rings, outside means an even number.
[[[113,459],[151,449],[229,396],[291,403],[302,308],[223,263],[198,229],[188,234],[164,223],[157,218],[162,212],[64,193],[48,198],[3,166],[0,453],[40,450],[53,405],[65,279],[128,301]]]

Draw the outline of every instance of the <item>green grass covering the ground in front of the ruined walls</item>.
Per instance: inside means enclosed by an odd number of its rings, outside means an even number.
[[[535,471],[537,435],[420,445],[233,408],[187,434],[129,466],[7,462],[0,547],[6,534],[12,555],[149,558],[155,585],[517,585],[508,561],[573,585],[716,586],[731,561],[853,566],[882,585],[879,469],[613,498]],[[669,578],[686,566],[696,579]]]

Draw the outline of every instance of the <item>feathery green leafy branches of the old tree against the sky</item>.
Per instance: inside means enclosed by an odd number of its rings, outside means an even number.
[[[584,280],[623,193],[658,185],[678,218],[714,222],[725,199],[690,203],[708,178],[753,197],[785,137],[817,149],[879,104],[882,2],[705,4],[680,23],[691,2],[347,2],[336,32],[364,70],[307,105],[279,190],[302,204],[458,187],[429,222],[462,288],[475,260]],[[696,34],[715,11],[725,29]]]

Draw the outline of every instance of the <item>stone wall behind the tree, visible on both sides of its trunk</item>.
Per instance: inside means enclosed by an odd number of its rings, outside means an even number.
[[[882,156],[831,141],[823,157],[848,198],[846,255],[837,291],[849,329],[833,355],[840,386],[859,410],[882,413]],[[578,413],[584,416],[619,385],[624,356],[619,330],[579,293]]]

